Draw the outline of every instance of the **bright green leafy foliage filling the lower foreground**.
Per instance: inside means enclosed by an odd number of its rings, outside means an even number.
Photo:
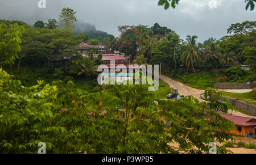
[[[147,86],[104,86],[101,92],[73,86],[38,81],[23,87],[1,69],[0,152],[37,153],[38,143],[46,142],[47,153],[206,153],[209,142],[232,139],[225,133],[231,122],[190,96],[156,104]]]

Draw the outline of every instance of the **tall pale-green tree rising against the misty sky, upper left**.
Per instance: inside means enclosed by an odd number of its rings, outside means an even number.
[[[73,29],[75,28],[76,19],[76,11],[73,9],[63,8],[59,15],[59,23],[64,29]]]

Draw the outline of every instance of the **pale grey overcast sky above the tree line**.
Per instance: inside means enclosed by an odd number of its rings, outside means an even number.
[[[158,22],[177,32],[182,39],[196,35],[198,41],[220,38],[232,23],[254,20],[254,11],[245,10],[244,0],[216,0],[217,8],[209,7],[210,0],[180,0],[175,9],[164,10],[158,0],[46,0],[46,9],[39,9],[39,0],[0,0],[0,19],[36,20],[57,19],[63,7],[77,11],[77,19],[94,24],[97,29],[119,36],[117,26]]]

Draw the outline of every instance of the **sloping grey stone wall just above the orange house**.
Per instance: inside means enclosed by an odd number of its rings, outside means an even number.
[[[232,105],[236,106],[238,109],[241,109],[247,113],[250,113],[253,116],[256,116],[256,105],[247,104],[242,100],[229,98],[229,101]]]

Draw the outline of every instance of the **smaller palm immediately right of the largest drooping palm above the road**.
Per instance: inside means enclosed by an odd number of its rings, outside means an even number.
[[[205,50],[208,51],[205,60],[217,62],[220,61],[220,48],[216,43],[210,42],[205,46]]]

